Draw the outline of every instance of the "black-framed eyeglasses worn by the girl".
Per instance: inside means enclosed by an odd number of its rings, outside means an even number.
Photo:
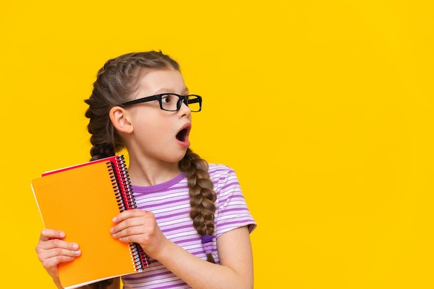
[[[130,102],[123,102],[121,106],[152,102],[153,100],[158,100],[159,108],[163,111],[179,111],[183,102],[186,106],[189,106],[192,112],[198,112],[202,109],[202,97],[200,95],[179,95],[176,93],[162,93],[141,97],[137,100],[131,100]]]

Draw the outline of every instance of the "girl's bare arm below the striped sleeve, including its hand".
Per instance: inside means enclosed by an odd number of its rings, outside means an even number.
[[[153,213],[132,209],[114,218],[114,238],[136,242],[192,288],[253,288],[253,258],[247,227],[217,239],[220,265],[209,263],[166,239]]]

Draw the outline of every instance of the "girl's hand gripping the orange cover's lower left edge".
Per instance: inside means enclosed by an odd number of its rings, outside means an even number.
[[[37,257],[51,277],[59,276],[59,263],[73,261],[81,254],[78,244],[62,241],[64,236],[62,231],[44,229],[36,246]]]

